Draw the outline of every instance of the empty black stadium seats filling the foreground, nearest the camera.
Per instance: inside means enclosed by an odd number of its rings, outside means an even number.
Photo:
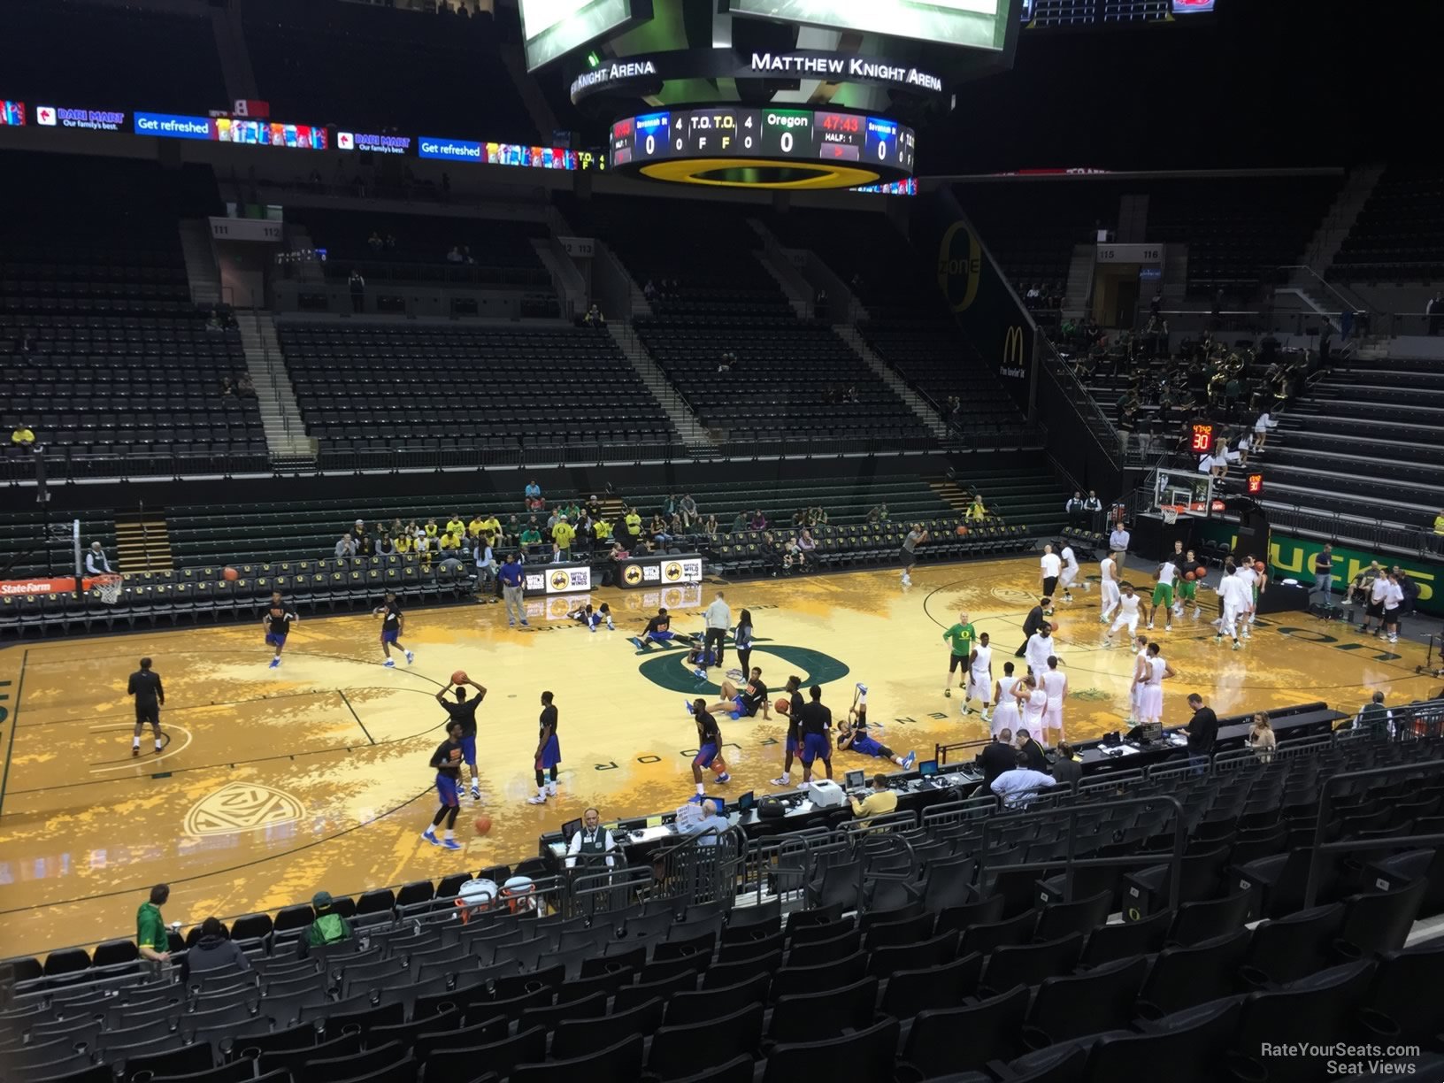
[[[188,985],[140,973],[129,941],[43,966],[13,959],[0,965],[16,980],[0,1051],[16,1079],[77,1083],[110,1079],[97,1063],[126,1083],[219,1083],[240,1070],[276,1083],[290,1071],[318,1083],[414,1083],[420,1071],[442,1083],[479,1071],[518,1083],[644,1071],[1102,1083],[1161,1063],[1184,1083],[1265,1064],[1269,1079],[1305,1083],[1315,1058],[1262,1058],[1261,1043],[1337,1043],[1367,1018],[1432,1070],[1440,1017],[1419,989],[1444,980],[1444,952],[1404,944],[1444,902],[1440,851],[1326,861],[1318,904],[1301,910],[1313,853],[1294,839],[1313,839],[1326,778],[1424,767],[1440,751],[1340,739],[1271,764],[1155,770],[1123,788],[1131,801],[1102,787],[1057,794],[1045,812],[902,813],[881,833],[835,812],[807,845],[734,829],[710,855],[693,843],[663,858],[687,875],[638,869],[645,898],[622,887],[630,871],[591,894],[529,859],[478,875],[526,875],[539,910],[482,907],[465,921],[469,871],[378,887],[336,901],[358,937],[305,959],[293,946],[309,907],[234,918],[251,969]],[[1331,827],[1408,846],[1441,800],[1437,786],[1376,780]],[[1175,830],[1175,809],[1190,839],[1181,859],[1152,845]],[[1064,895],[1063,816],[1082,853],[1136,866],[1077,868]],[[767,884],[749,882],[762,868]],[[196,934],[173,936],[180,956]]]

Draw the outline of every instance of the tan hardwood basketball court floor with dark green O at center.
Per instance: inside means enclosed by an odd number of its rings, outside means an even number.
[[[865,682],[881,739],[927,758],[934,742],[988,732],[941,695],[941,630],[966,606],[995,638],[1001,676],[1037,575],[1037,559],[1019,557],[920,567],[910,589],[897,572],[875,570],[739,583],[726,598],[734,621],[739,608],[752,611],[752,660],[774,699],[797,673],[825,682],[839,716]],[[699,628],[712,592],[710,583],[669,588],[673,627]],[[1058,605],[1071,738],[1116,729],[1126,715],[1132,656],[1122,644],[1099,648],[1097,596],[1080,591],[1074,605]],[[1213,605],[1212,592],[1203,596]],[[274,910],[318,888],[357,894],[527,856],[540,832],[588,804],[604,819],[676,807],[693,791],[696,745],[682,700],[716,686],[699,692],[682,651],[640,656],[628,644],[663,601],[657,592],[604,591],[593,601],[611,602],[615,632],[569,624],[562,599],[534,602],[530,631],[510,631],[500,605],[414,611],[404,640],[416,664],[394,670],[381,667],[367,615],[303,619],[279,670],[267,669],[258,627],[12,644],[0,651],[0,696],[9,696],[0,706],[10,709],[0,726],[0,957],[133,936],[136,908],[157,881],[172,884],[168,920],[191,924]],[[1167,686],[1168,725],[1186,721],[1193,690],[1223,715],[1315,699],[1353,709],[1373,689],[1406,702],[1437,683],[1414,676],[1424,660],[1417,643],[1391,651],[1291,614],[1261,621],[1235,653],[1213,645],[1209,615],[1157,632],[1178,671]],[[165,680],[168,742],[155,754],[147,731],[146,751],[131,760],[126,679],[143,654]],[[456,669],[490,695],[478,715],[484,803],[464,803],[465,851],[451,853],[419,833],[436,809],[427,760],[445,713],[433,696]],[[563,773],[560,797],[533,807],[543,689],[560,709]],[[722,791],[767,791],[783,732],[775,721],[723,718],[732,781]],[[835,760],[839,775],[874,764],[851,752]],[[495,822],[487,838],[471,826],[481,810]]]

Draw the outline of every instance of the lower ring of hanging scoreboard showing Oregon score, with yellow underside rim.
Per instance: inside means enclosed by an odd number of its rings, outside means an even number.
[[[913,130],[887,117],[708,105],[612,124],[611,163],[660,180],[739,188],[851,188],[911,176]]]

